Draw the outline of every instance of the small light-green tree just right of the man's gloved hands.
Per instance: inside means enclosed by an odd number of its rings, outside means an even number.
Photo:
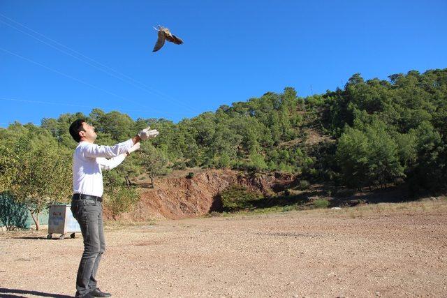
[[[168,174],[168,162],[168,158],[152,145],[142,149],[142,165],[151,179],[152,188],[154,188],[155,177]]]

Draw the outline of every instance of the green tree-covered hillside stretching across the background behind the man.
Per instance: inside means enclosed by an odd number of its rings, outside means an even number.
[[[129,198],[132,177],[188,167],[290,172],[349,188],[408,182],[413,191],[433,191],[447,183],[447,69],[388,80],[355,74],[344,89],[304,98],[286,87],[177,124],[100,109],[43,119],[41,126],[11,124],[0,129],[2,190],[23,193],[54,172],[61,179],[51,178],[52,189],[68,195],[76,146],[68,126],[80,117],[96,127],[98,144],[121,142],[148,124],[159,130],[152,144],[105,174],[105,189]]]

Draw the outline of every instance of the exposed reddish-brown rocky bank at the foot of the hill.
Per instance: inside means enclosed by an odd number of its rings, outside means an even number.
[[[155,188],[141,188],[140,202],[133,211],[118,218],[148,221],[153,218],[201,216],[216,209],[217,195],[232,184],[269,196],[284,189],[293,178],[288,174],[247,174],[234,170],[205,170],[191,179],[166,177],[156,181]]]

